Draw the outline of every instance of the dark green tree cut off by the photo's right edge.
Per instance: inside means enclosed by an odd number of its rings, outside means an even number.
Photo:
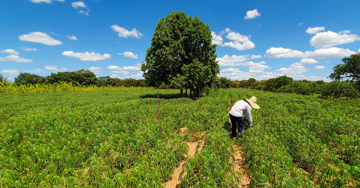
[[[360,83],[360,52],[357,51],[350,57],[341,60],[344,64],[337,64],[333,68],[333,73],[329,78],[339,81],[344,78],[350,78],[352,81]]]

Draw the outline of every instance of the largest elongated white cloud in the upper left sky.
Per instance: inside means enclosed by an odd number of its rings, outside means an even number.
[[[50,37],[48,34],[41,32],[32,32],[32,33],[28,33],[27,35],[21,35],[19,36],[19,39],[22,41],[37,42],[49,46],[63,44],[61,41],[55,40],[53,37]]]

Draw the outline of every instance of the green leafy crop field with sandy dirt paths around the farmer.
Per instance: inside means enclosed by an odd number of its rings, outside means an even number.
[[[0,93],[0,187],[360,188],[359,99],[178,92]],[[251,96],[231,138],[229,107]]]

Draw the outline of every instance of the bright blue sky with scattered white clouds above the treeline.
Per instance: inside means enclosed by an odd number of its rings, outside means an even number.
[[[89,69],[142,78],[159,19],[173,11],[210,26],[220,76],[329,81],[360,49],[360,1],[0,1],[0,73]]]

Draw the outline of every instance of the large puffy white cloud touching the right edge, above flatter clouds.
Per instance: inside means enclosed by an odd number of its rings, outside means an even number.
[[[359,40],[360,37],[355,34],[339,35],[338,33],[327,31],[327,32],[316,33],[315,36],[311,37],[310,45],[315,47],[328,48],[328,47],[359,41]]]

